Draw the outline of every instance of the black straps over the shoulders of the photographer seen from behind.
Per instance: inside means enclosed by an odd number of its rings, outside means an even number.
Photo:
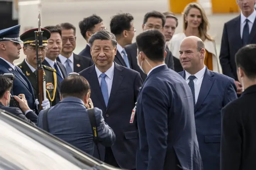
[[[44,113],[43,113],[43,130],[49,132],[48,129],[48,121],[47,121],[47,114],[50,108],[45,109]],[[97,130],[97,123],[96,123],[96,117],[95,114],[93,112],[93,109],[87,109],[88,112],[88,116],[90,119],[90,123],[92,126],[92,135],[93,135],[93,141],[97,147],[98,150],[98,154],[99,154],[99,147],[98,147],[98,143],[99,143],[99,138],[98,138],[98,130]],[[99,159],[100,159],[100,154],[99,154]],[[101,159],[100,159],[101,160]]]

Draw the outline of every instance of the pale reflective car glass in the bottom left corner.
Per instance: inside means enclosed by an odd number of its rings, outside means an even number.
[[[0,167],[81,170],[39,142],[0,120]],[[88,166],[89,168],[89,166]]]

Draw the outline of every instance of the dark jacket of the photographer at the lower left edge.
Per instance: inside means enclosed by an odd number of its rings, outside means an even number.
[[[16,115],[17,117],[20,117],[27,123],[31,123],[32,125],[36,126],[37,124],[37,115],[33,111],[28,112],[26,115],[24,115],[20,108],[17,107],[6,107],[0,102],[0,109],[3,109],[4,111],[10,112],[13,115]]]

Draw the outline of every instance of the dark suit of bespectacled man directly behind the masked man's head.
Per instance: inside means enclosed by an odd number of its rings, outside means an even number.
[[[137,44],[136,44],[136,42],[134,42],[133,44],[127,45],[125,47],[125,51],[127,53],[128,60],[131,64],[131,69],[139,72],[141,74],[142,80],[144,81],[146,79],[147,75],[142,72],[142,70],[140,69],[140,67],[137,64]],[[167,64],[168,68],[174,70],[173,55],[171,54],[171,52],[168,49],[165,49],[165,51],[167,52],[167,55],[165,58],[165,64]]]

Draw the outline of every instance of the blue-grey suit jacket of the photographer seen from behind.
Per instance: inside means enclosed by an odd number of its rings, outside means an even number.
[[[43,114],[38,115],[37,126],[43,129]],[[111,146],[115,141],[115,134],[104,122],[102,111],[94,108],[99,142],[104,146]],[[92,127],[87,114],[87,108],[82,100],[76,97],[66,97],[55,106],[51,107],[47,114],[49,133],[93,155],[94,142]]]

